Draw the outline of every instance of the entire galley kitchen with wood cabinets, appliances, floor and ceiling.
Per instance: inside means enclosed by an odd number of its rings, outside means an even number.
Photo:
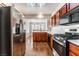
[[[0,56],[79,56],[79,3],[1,3]]]

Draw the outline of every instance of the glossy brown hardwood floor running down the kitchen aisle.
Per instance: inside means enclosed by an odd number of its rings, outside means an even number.
[[[25,56],[53,56],[47,42],[33,42],[32,37],[26,39]]]

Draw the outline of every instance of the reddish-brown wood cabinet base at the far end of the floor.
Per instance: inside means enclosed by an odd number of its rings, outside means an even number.
[[[48,42],[47,32],[33,32],[33,42]]]

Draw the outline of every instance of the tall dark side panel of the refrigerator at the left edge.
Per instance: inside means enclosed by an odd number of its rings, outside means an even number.
[[[10,56],[11,46],[11,7],[0,7],[0,56]]]

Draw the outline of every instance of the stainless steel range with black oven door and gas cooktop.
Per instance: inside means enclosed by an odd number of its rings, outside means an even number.
[[[66,38],[64,34],[54,35],[54,49],[60,56],[66,56]]]

